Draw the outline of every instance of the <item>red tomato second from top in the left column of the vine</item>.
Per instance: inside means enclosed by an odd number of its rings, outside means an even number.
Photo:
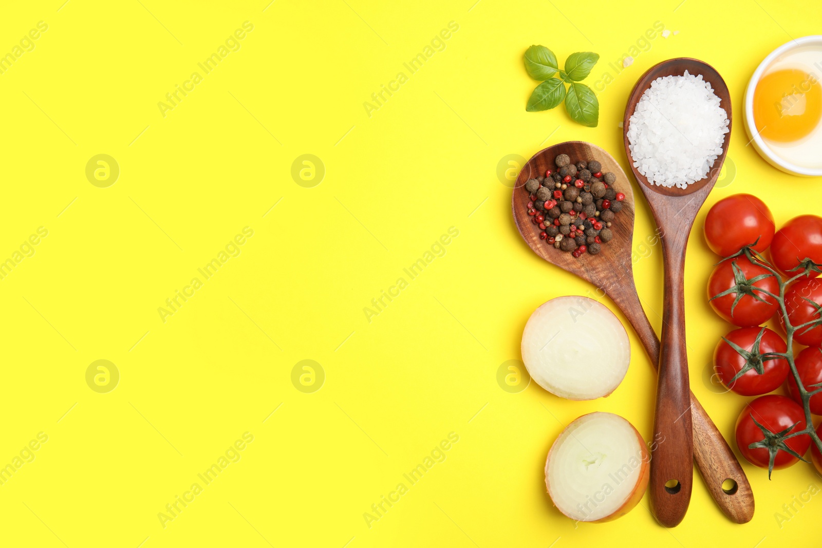
[[[739,273],[734,272],[733,266],[737,265]],[[747,279],[753,279],[762,274],[769,274],[767,278],[756,281],[753,286],[746,284]],[[727,289],[733,288],[740,284],[743,291],[742,297],[734,306],[737,299],[737,292],[730,292],[722,297],[715,298],[710,301],[713,311],[721,315],[725,320],[731,322],[733,325],[739,327],[752,327],[754,325],[764,324],[777,311],[778,303],[773,297],[768,297],[763,292],[756,291],[755,288],[761,288],[765,291],[779,294],[779,283],[773,274],[764,269],[760,265],[754,265],[747,260],[746,257],[741,257],[734,260],[723,260],[716,268],[713,269],[711,277],[708,280],[708,298],[718,295]],[[746,294],[744,289],[750,289],[754,295],[762,299],[761,301],[754,298],[751,294]]]

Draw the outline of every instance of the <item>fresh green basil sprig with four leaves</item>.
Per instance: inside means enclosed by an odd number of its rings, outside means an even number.
[[[580,84],[580,80],[587,78],[593,66],[597,64],[597,53],[571,53],[566,59],[565,70],[561,70],[559,63],[556,62],[556,55],[550,49],[534,45],[525,51],[524,60],[528,75],[543,82],[533,90],[525,110],[549,110],[565,99],[568,115],[575,122],[583,126],[597,127],[599,101],[591,88]],[[568,90],[566,83],[570,84]]]

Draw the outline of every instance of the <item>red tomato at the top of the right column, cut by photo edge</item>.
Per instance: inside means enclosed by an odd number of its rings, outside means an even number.
[[[774,265],[784,273],[805,259],[822,263],[822,217],[800,215],[785,223],[771,242]],[[797,272],[788,275],[794,275]],[[819,273],[811,273],[814,278]]]

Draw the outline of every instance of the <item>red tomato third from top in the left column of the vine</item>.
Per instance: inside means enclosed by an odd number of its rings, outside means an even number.
[[[759,348],[751,352],[760,331],[762,332],[762,338],[760,338]],[[740,346],[748,354],[742,356],[723,339],[719,340],[716,350],[713,351],[713,370],[717,372],[719,380],[727,389],[743,396],[759,396],[773,392],[785,382],[788,372],[791,371],[791,366],[787,365],[787,360],[783,358],[762,360],[760,358],[760,354],[766,352],[784,353],[787,351],[785,341],[774,331],[766,327],[743,327],[734,329],[731,333],[725,335],[725,338]],[[822,357],[822,354],[820,354],[820,357]],[[733,380],[749,361],[750,368],[737,380]],[[757,363],[762,364],[763,373],[761,375],[755,369]]]

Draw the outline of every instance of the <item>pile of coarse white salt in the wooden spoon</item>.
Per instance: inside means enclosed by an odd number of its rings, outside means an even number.
[[[630,117],[634,167],[653,184],[686,188],[722,154],[727,125],[727,113],[702,75],[657,78]]]

